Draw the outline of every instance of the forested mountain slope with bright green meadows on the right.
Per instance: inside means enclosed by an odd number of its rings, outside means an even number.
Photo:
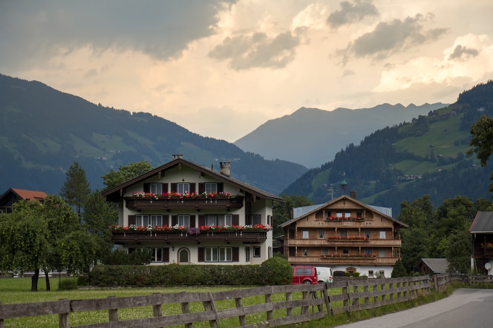
[[[401,202],[424,194],[435,206],[456,195],[489,198],[493,164],[484,168],[475,154],[466,155],[470,126],[483,114],[493,115],[493,81],[464,91],[452,105],[377,130],[359,146],[349,143],[283,192],[306,195],[318,204],[354,190],[364,203],[392,208],[394,217]]]

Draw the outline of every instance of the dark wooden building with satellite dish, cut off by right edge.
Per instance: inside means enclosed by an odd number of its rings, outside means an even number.
[[[493,274],[493,212],[478,211],[469,232],[473,236],[472,269]]]

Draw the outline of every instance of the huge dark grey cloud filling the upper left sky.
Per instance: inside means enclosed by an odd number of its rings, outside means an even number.
[[[157,60],[179,58],[190,42],[214,33],[218,13],[231,2],[2,1],[2,62],[35,65],[88,45],[95,54],[112,47]]]

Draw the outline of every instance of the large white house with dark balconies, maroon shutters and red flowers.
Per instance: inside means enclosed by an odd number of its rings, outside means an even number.
[[[144,248],[152,265],[260,264],[272,256],[272,208],[281,197],[173,155],[173,160],[103,192],[117,202],[112,240]]]

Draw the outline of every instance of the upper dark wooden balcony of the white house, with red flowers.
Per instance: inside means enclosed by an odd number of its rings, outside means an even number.
[[[141,198],[125,197],[127,209],[241,209],[243,196],[235,198]]]

